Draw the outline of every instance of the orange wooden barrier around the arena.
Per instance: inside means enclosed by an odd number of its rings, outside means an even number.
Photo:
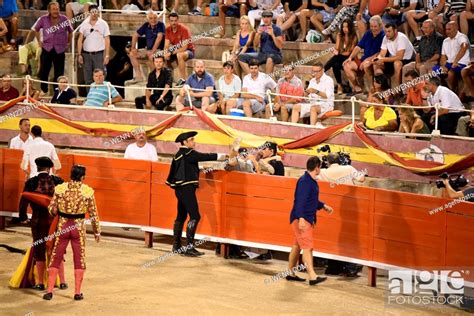
[[[61,155],[66,179],[73,163],[87,168],[101,221],[156,228],[172,234],[174,191],[169,165],[147,161]],[[16,212],[24,174],[21,151],[0,150],[0,211]],[[201,175],[198,233],[215,241],[287,250],[293,244],[289,215],[296,179],[217,171]],[[377,267],[464,270],[474,281],[474,208],[467,202],[429,212],[447,202],[432,196],[320,183],[320,199],[335,212],[318,212],[314,250],[321,256],[363,263],[374,285]],[[1,222],[0,222],[1,224]],[[145,238],[152,241],[150,229]]]

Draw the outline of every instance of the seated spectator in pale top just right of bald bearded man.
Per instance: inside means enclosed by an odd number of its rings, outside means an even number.
[[[222,114],[230,114],[230,110],[237,107],[237,100],[242,90],[242,80],[234,74],[234,64],[226,61],[223,66],[224,75],[217,82],[219,101],[217,107]]]

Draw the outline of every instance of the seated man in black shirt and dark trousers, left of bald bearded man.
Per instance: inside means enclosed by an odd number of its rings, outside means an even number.
[[[155,69],[148,75],[147,88],[158,88],[159,90],[145,89],[145,96],[135,98],[135,106],[137,109],[143,109],[143,105],[147,109],[154,106],[157,110],[163,111],[173,102],[173,72],[171,69],[164,67],[165,58],[157,56],[154,58]]]

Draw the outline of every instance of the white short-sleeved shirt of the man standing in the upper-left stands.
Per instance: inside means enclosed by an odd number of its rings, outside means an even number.
[[[94,30],[91,32],[91,30]],[[98,18],[95,25],[90,23],[90,18],[82,22],[79,32],[84,35],[82,50],[85,52],[100,52],[105,49],[105,37],[110,36],[109,25],[107,22]]]

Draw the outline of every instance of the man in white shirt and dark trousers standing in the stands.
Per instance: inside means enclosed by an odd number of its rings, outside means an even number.
[[[82,64],[86,84],[92,83],[94,69],[105,69],[110,50],[109,25],[99,17],[96,4],[90,5],[89,10],[91,14],[79,27],[77,40],[77,62]]]

